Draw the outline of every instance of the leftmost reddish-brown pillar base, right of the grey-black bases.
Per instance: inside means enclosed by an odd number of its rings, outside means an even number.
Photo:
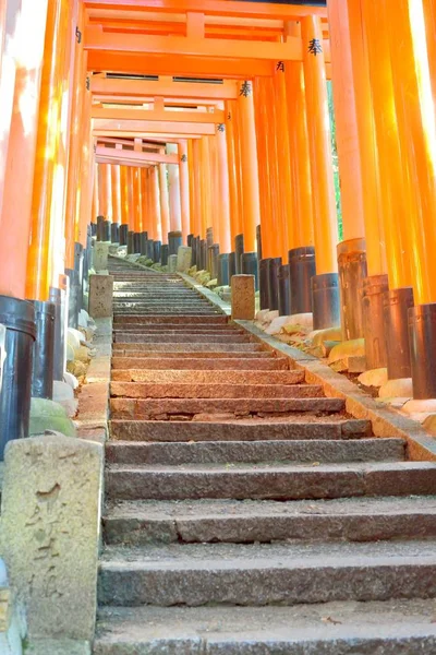
[[[338,243],[338,271],[343,341],[363,336],[362,286],[367,277],[365,239]]]

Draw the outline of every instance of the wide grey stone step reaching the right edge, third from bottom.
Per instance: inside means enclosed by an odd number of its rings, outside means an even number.
[[[436,536],[436,497],[275,501],[121,501],[104,517],[107,545],[380,541]]]

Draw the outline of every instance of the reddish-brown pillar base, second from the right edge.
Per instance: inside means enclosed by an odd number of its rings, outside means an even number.
[[[383,295],[383,320],[388,380],[410,378],[409,318],[413,308],[413,288],[390,289]]]

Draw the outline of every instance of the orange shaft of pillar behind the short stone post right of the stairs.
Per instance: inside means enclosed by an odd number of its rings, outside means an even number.
[[[261,210],[253,85],[251,81],[246,80],[239,86],[238,109],[241,130],[244,249],[245,252],[255,252],[256,226],[261,223]]]

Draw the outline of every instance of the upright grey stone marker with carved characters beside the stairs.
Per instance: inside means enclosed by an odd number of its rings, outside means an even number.
[[[0,548],[29,653],[90,652],[101,489],[98,443],[46,434],[7,448]]]

